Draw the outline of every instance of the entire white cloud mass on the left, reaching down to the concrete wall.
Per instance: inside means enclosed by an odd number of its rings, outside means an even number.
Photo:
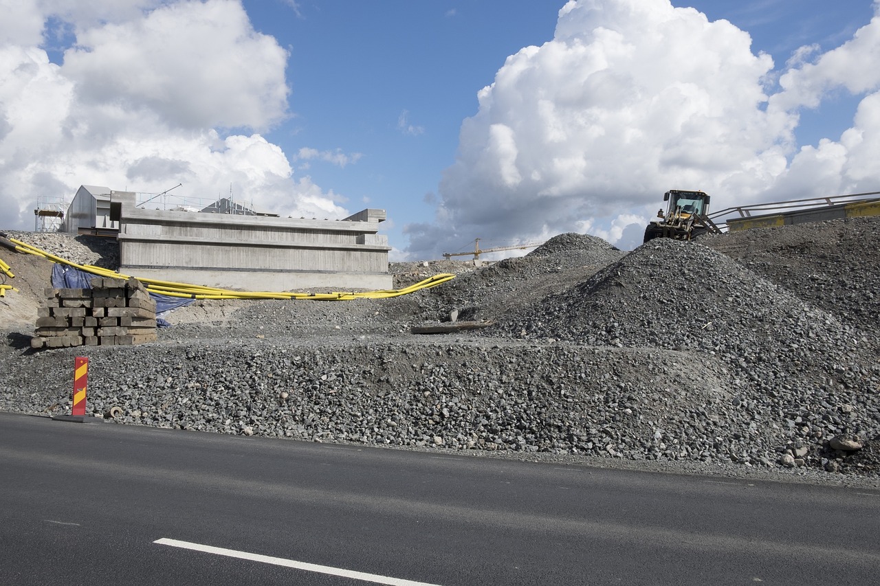
[[[288,55],[238,1],[21,4],[20,26],[5,14],[0,25],[0,226],[27,227],[38,195],[70,198],[81,184],[180,182],[175,194],[232,189],[282,215],[348,215],[344,198],[294,179],[278,146],[242,132],[287,115]],[[50,17],[76,35],[61,65],[40,46]]]

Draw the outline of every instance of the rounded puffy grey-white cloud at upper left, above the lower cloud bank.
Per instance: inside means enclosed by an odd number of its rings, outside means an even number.
[[[256,33],[238,2],[209,0],[77,35],[62,70],[84,106],[112,95],[126,114],[146,109],[184,128],[265,129],[287,108],[287,54]]]

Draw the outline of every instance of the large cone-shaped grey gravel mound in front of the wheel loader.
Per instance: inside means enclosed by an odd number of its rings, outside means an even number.
[[[764,348],[783,332],[787,338],[805,334],[826,342],[857,336],[830,313],[729,257],[665,238],[533,305],[507,329],[590,344],[720,353],[744,341]]]

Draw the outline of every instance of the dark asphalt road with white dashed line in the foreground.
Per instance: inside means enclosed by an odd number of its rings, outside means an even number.
[[[13,414],[0,519],[2,584],[869,584],[880,569],[876,491]]]

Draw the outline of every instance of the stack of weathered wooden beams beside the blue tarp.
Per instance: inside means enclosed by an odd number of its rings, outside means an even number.
[[[31,348],[156,341],[156,302],[136,279],[95,277],[92,289],[46,289]]]

